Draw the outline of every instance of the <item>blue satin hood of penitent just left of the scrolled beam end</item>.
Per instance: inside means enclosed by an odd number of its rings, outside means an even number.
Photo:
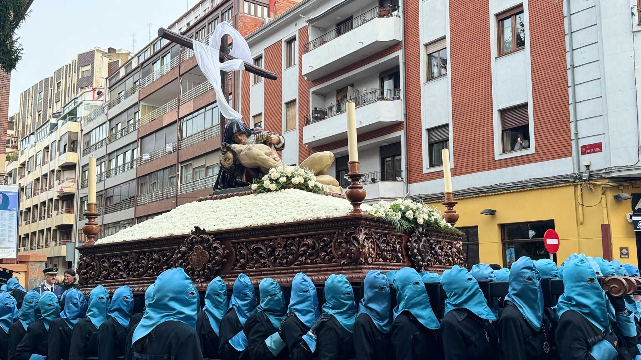
[[[565,292],[556,303],[556,316],[561,318],[565,311],[574,310],[601,331],[609,331],[606,295],[594,268],[582,258],[565,261],[563,266]]]

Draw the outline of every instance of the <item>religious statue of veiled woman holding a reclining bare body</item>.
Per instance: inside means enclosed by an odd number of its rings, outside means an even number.
[[[278,151],[285,149],[283,136],[260,127],[247,127],[238,119],[228,120],[225,125],[221,144],[222,166],[214,190],[248,186],[270,168],[284,165],[278,156]],[[342,193],[337,179],[327,174],[333,162],[333,152],[315,152],[300,167],[312,170],[324,191]]]

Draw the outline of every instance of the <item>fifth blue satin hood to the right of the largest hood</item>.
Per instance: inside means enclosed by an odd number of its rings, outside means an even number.
[[[325,304],[322,312],[334,315],[345,330],[352,332],[356,320],[354,290],[345,275],[331,274],[325,281]]]

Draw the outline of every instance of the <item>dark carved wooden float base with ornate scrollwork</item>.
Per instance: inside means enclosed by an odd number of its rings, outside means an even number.
[[[238,274],[254,284],[272,277],[291,284],[298,272],[322,284],[331,274],[362,281],[369,270],[413,266],[441,272],[463,265],[462,236],[420,228],[412,233],[369,215],[307,220],[260,227],[79,247],[78,277],[87,294],[97,285],[122,285],[142,294],[161,272],[182,267],[196,288],[221,276],[231,287]]]

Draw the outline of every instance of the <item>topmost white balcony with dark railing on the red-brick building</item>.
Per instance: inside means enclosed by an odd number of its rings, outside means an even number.
[[[326,22],[334,18],[329,18],[328,15],[313,23],[312,29],[331,27]],[[397,6],[372,8],[305,44],[303,76],[313,81],[399,42],[401,19]]]

